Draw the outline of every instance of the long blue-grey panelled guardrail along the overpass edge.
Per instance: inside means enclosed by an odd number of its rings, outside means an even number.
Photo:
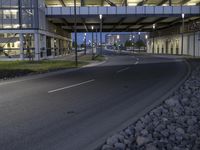
[[[77,15],[199,15],[200,6],[77,7]],[[47,7],[47,16],[74,15],[74,7]]]

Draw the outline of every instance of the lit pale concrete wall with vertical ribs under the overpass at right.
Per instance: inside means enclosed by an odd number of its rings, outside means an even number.
[[[181,34],[154,37],[147,41],[147,52],[155,54],[181,55],[182,36]],[[183,36],[183,54],[200,56],[200,31],[195,33],[185,33]]]

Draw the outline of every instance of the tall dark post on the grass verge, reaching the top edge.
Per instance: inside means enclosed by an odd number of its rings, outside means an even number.
[[[74,0],[74,33],[75,33],[75,63],[78,66],[78,53],[77,53],[77,18],[76,18],[76,0]]]

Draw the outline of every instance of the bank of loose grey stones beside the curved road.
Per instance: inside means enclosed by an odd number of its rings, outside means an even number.
[[[200,67],[161,105],[109,137],[101,150],[200,150]]]

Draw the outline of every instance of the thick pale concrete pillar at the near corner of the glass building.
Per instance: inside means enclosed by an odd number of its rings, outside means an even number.
[[[40,34],[34,33],[35,60],[40,60]]]

